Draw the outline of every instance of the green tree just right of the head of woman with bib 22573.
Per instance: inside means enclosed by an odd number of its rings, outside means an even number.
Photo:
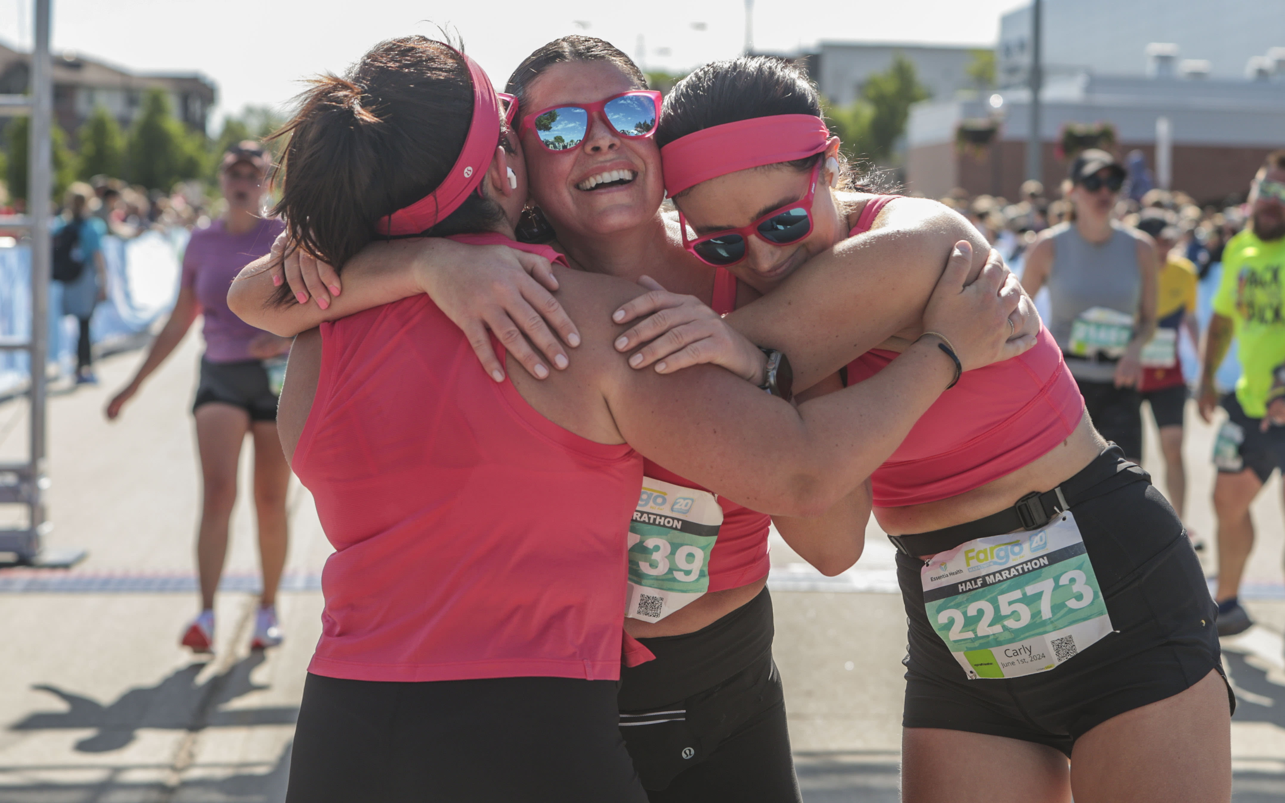
[[[889,164],[897,139],[906,131],[910,107],[929,96],[915,75],[914,62],[898,54],[885,72],[866,80],[856,101],[846,107],[825,104],[824,110],[835,123],[849,158]]]

